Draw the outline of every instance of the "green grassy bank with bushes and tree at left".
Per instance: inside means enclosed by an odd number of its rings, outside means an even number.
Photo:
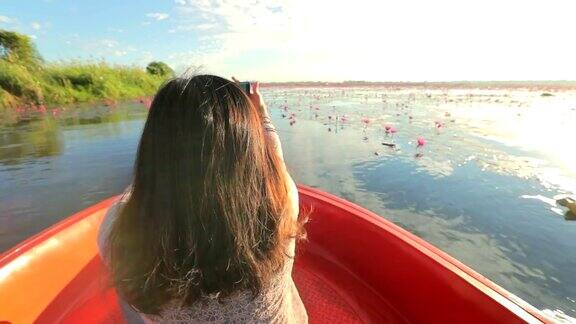
[[[146,70],[105,62],[46,63],[28,36],[0,30],[0,110],[150,96],[173,74],[163,62]]]

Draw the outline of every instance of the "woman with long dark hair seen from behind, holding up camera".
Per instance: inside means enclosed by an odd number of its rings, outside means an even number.
[[[156,94],[131,189],[99,235],[128,318],[307,322],[291,277],[298,193],[250,92],[198,75]]]

